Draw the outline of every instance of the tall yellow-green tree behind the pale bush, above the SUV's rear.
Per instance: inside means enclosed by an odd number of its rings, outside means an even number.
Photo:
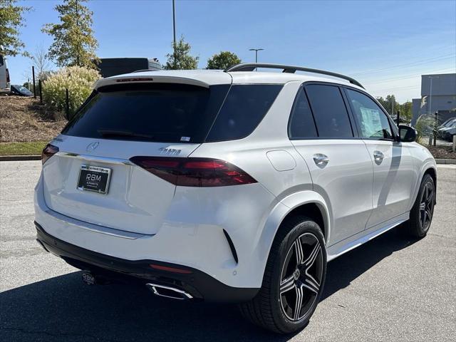
[[[86,66],[95,68],[98,42],[93,36],[92,15],[82,3],[88,0],[64,0],[56,6],[59,24],[46,24],[41,31],[53,36],[49,58],[58,66]]]

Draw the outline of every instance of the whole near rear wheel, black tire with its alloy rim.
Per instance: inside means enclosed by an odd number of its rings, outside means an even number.
[[[298,242],[301,245],[300,252]],[[326,278],[325,248],[321,228],[312,219],[298,216],[283,222],[269,252],[259,293],[252,301],[239,305],[242,316],[276,333],[292,333],[304,328],[314,314],[323,291]],[[302,264],[298,263],[299,259],[303,261]],[[291,286],[291,281],[296,284]],[[298,314],[292,308],[293,298],[295,306],[299,302],[298,298],[301,298]]]

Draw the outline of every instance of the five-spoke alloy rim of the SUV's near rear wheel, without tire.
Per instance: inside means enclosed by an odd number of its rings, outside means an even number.
[[[281,271],[280,304],[290,321],[299,321],[314,305],[323,278],[323,250],[311,233],[299,236],[286,254]]]

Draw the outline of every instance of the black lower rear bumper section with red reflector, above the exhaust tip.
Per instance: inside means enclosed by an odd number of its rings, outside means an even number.
[[[223,284],[209,274],[188,266],[169,264],[155,260],[126,260],[110,257],[88,249],[69,244],[48,234],[43,227],[35,222],[37,240],[47,252],[61,257],[71,266],[92,272],[108,279],[119,279],[136,284],[154,282],[165,286],[182,289],[194,299],[241,303],[249,301],[257,295],[259,289],[239,288]],[[187,273],[152,269],[149,265],[159,265],[185,270]]]

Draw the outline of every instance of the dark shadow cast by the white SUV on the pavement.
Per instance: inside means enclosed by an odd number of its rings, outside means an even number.
[[[413,242],[394,231],[328,264],[324,301]],[[56,260],[56,262],[58,262]],[[63,262],[63,261],[61,261]],[[81,272],[0,294],[0,341],[286,341],[235,306],[172,301],[125,285],[87,286]]]

